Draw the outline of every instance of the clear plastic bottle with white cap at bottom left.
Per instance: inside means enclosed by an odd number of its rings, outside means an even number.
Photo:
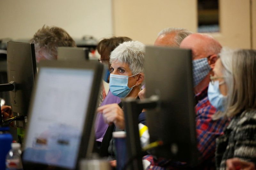
[[[22,170],[21,150],[19,143],[12,143],[12,149],[6,155],[6,170]]]

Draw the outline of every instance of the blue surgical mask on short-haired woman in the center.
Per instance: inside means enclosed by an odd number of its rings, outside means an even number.
[[[134,74],[132,76],[135,76],[135,75],[137,75],[137,74]],[[132,76],[130,76],[130,77],[132,77]],[[135,85],[132,86],[131,88],[129,88],[128,87],[128,78],[129,78],[128,76],[110,74],[109,90],[112,92],[112,94],[114,96],[117,96],[119,98],[125,98],[132,91],[132,88]]]

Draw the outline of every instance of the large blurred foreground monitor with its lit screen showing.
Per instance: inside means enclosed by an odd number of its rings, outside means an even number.
[[[97,61],[40,62],[29,108],[24,169],[77,169],[78,160],[92,152],[102,71]]]

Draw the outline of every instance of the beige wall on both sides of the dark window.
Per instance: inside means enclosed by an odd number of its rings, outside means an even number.
[[[184,27],[196,32],[196,2],[196,0],[113,0],[114,34],[128,36],[150,45],[156,40],[157,33],[166,27]],[[223,46],[250,48],[250,0],[219,2],[221,31],[212,35]]]

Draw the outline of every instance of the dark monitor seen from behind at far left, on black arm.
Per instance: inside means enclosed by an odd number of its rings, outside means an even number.
[[[27,115],[34,78],[36,56],[33,43],[7,42],[8,82],[14,81],[15,89],[10,91],[14,115]]]

